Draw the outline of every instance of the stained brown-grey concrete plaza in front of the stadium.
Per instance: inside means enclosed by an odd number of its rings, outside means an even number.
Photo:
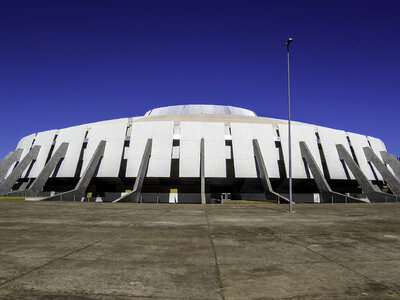
[[[399,299],[400,203],[0,200],[4,299]]]

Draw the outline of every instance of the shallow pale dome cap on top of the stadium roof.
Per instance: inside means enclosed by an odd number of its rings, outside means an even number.
[[[248,109],[226,106],[226,105],[205,105],[205,104],[188,104],[174,105],[154,108],[146,112],[145,116],[161,116],[161,115],[238,115],[256,117],[257,115]]]

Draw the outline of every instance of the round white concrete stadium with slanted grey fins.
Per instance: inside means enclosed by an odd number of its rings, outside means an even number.
[[[397,201],[400,163],[375,137],[292,122],[296,202]],[[286,201],[288,125],[232,106],[179,105],[22,138],[2,196],[65,201]]]

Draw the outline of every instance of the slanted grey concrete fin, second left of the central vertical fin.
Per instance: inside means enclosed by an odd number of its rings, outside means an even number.
[[[89,161],[85,171],[83,172],[81,178],[76,184],[75,188],[71,191],[67,191],[55,196],[46,198],[45,200],[57,200],[57,201],[80,201],[84,196],[86,189],[92,180],[96,168],[104,155],[104,149],[106,148],[106,141],[101,140],[93,153],[92,158]],[[56,164],[57,165],[57,164]]]

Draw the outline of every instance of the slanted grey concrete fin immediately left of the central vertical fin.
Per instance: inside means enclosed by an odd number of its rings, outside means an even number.
[[[153,140],[148,139],[146,142],[146,148],[144,149],[142,161],[140,162],[140,167],[135,180],[135,185],[133,186],[132,192],[123,195],[122,197],[114,200],[113,202],[127,201],[127,202],[140,202],[140,196],[142,193],[143,182],[146,177],[147,168],[149,166],[149,160],[151,156],[151,147]]]

